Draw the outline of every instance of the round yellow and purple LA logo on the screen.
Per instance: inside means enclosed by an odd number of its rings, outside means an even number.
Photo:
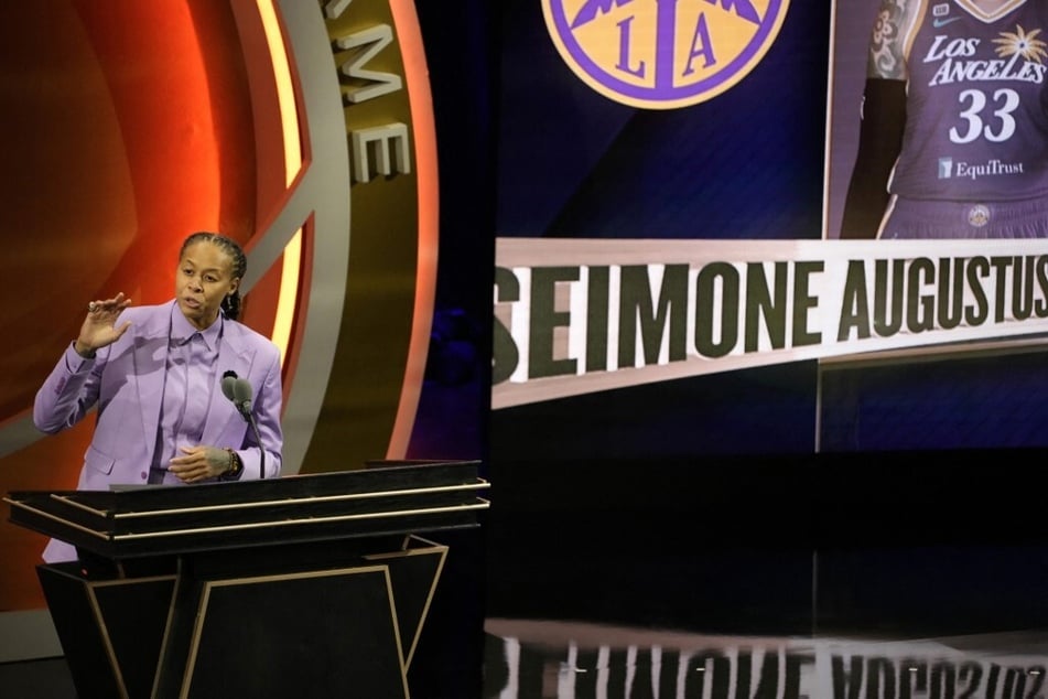
[[[561,56],[615,101],[674,109],[743,79],[775,42],[789,0],[542,0]]]

